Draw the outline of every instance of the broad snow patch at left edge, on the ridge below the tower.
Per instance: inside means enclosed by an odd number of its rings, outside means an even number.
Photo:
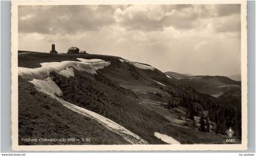
[[[26,80],[33,80],[34,78],[44,80],[48,78],[49,73],[54,71],[63,76],[74,76],[73,69],[95,74],[96,70],[91,64],[79,61],[62,61],[52,63],[40,63],[38,68],[18,67],[18,75]]]

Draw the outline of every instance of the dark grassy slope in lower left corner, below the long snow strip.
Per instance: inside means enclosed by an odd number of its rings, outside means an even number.
[[[77,114],[19,78],[19,144],[129,144],[97,121]],[[90,142],[25,142],[21,138],[90,138]]]

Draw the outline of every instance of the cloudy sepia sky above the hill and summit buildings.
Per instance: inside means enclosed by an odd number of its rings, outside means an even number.
[[[18,49],[77,46],[163,72],[240,73],[240,5],[37,5],[18,8]]]

